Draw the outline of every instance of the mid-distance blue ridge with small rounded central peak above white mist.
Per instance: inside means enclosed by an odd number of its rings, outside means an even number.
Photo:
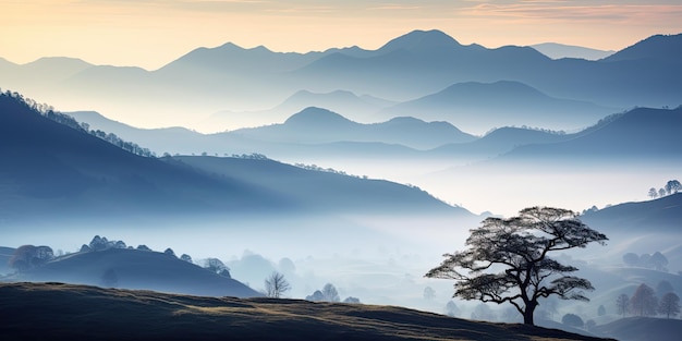
[[[682,107],[637,108],[611,114],[574,133],[504,126],[477,137],[447,122],[411,117],[362,124],[321,108],[306,108],[281,124],[199,134],[174,127],[141,130],[95,112],[70,112],[93,129],[110,131],[157,153],[208,155],[258,153],[275,158],[326,155],[327,159],[374,156],[404,159],[460,158],[503,160],[561,158],[602,161],[618,159],[674,159],[682,126]],[[511,151],[511,153],[510,153]],[[508,154],[509,155],[506,155]]]

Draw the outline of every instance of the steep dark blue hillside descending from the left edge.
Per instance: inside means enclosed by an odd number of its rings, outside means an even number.
[[[277,200],[229,179],[130,154],[0,96],[0,203],[5,217],[260,209]]]

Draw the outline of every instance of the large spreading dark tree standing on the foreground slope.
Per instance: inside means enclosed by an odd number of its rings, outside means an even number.
[[[454,279],[454,296],[464,300],[508,302],[523,315],[524,324],[534,325],[540,297],[589,301],[582,290],[594,290],[588,280],[568,276],[577,268],[548,257],[550,252],[592,242],[604,245],[608,240],[576,217],[567,209],[531,207],[519,217],[487,218],[470,230],[467,249],[444,254],[426,277]],[[486,272],[492,270],[499,272]]]

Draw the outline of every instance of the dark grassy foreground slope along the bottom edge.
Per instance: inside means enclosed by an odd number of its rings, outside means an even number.
[[[80,340],[600,340],[399,307],[0,284],[0,338]]]

